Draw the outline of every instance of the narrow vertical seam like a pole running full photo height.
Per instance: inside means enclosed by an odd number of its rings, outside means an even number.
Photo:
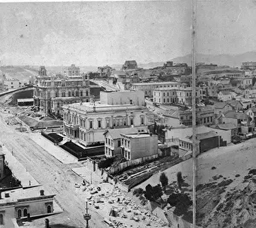
[[[192,184],[193,184],[193,228],[195,228],[196,223],[196,192],[195,192],[195,186],[196,186],[196,84],[195,84],[195,78],[196,78],[196,71],[195,71],[195,9],[196,9],[196,0],[192,0],[192,128],[193,128],[193,178],[192,178]]]

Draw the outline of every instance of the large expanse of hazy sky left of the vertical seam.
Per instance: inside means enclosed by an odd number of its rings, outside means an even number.
[[[2,64],[102,66],[191,51],[191,4],[0,3]]]

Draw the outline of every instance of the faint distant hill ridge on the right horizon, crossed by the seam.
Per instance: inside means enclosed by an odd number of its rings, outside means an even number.
[[[205,62],[240,67],[242,62],[256,61],[256,51],[247,52],[243,54],[197,54],[196,62]],[[172,59],[173,62],[184,62],[191,66],[191,54]]]

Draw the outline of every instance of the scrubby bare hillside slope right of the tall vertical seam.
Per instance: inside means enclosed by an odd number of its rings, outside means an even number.
[[[256,225],[254,139],[201,154],[197,162],[197,224],[202,227]]]

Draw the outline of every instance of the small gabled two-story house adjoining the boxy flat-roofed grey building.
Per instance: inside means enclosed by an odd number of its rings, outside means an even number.
[[[105,155],[106,157],[113,157],[121,155],[121,134],[139,134],[147,133],[148,127],[145,128],[108,128],[104,133],[105,136]]]

